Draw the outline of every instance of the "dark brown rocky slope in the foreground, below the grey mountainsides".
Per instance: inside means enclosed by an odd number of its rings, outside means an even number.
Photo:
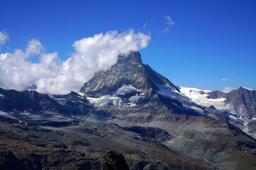
[[[5,121],[0,131],[0,169],[209,169],[115,124],[38,127]]]

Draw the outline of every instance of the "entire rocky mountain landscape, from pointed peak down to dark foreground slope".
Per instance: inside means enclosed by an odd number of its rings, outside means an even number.
[[[0,88],[0,169],[255,169],[256,91],[174,85],[119,55],[79,92]]]

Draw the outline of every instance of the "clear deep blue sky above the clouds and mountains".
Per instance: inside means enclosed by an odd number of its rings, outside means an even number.
[[[1,52],[25,48],[29,39],[38,38],[48,52],[56,51],[61,59],[67,59],[78,39],[134,29],[151,35],[150,44],[141,50],[143,62],[176,85],[256,89],[253,0],[0,0],[0,6],[0,31],[10,36]],[[166,15],[175,25],[164,33]]]

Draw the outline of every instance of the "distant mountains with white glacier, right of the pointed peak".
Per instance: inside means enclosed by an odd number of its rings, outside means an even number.
[[[195,88],[179,87],[180,91],[193,102],[205,107],[216,109],[221,113],[216,114],[219,119],[243,129],[247,134],[255,134],[256,120],[256,91],[240,87],[232,92],[200,90]]]

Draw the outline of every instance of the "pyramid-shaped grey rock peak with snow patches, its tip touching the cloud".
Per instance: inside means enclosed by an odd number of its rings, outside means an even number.
[[[97,109],[112,115],[115,113],[114,117],[123,120],[131,119],[127,113],[143,113],[145,118],[145,110],[147,117],[158,117],[157,109],[180,115],[212,116],[180,93],[171,81],[143,64],[138,52],[120,55],[114,66],[95,73],[80,92],[88,96],[89,102]],[[150,107],[156,109],[150,110]]]

